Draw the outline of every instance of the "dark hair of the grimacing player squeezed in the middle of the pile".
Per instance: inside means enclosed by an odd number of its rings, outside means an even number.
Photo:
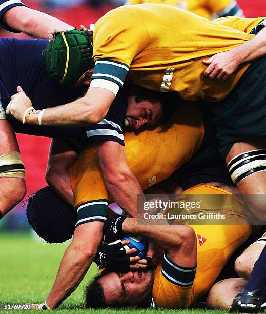
[[[177,105],[179,103],[183,103],[183,100],[177,92],[163,93],[142,88],[133,84],[128,84],[126,89],[129,96],[136,96],[136,103],[140,103],[145,100],[150,101],[153,104],[157,103],[158,101],[161,103],[162,116],[158,123],[163,123],[168,120],[177,109]]]

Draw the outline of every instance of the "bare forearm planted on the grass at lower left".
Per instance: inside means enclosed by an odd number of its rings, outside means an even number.
[[[53,287],[47,298],[50,308],[58,307],[78,287],[94,260],[101,241],[103,222],[78,226],[60,263]]]

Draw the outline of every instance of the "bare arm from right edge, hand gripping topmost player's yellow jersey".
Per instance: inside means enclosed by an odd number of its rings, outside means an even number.
[[[263,23],[264,24],[264,23]],[[229,51],[212,56],[209,60],[203,60],[208,65],[204,75],[209,78],[226,80],[243,64],[251,62],[266,54],[266,28],[263,28],[254,38]]]

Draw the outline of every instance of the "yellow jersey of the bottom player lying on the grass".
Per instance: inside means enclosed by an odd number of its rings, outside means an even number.
[[[248,224],[250,215],[241,202],[226,190],[202,184],[182,194],[227,194],[226,204],[219,208],[221,214],[226,214],[226,220],[222,225],[210,225],[208,219],[202,220],[200,225],[185,222],[193,227],[198,238],[195,280],[192,285],[186,284],[186,281],[191,280],[190,270],[184,270],[165,256],[154,273],[153,301],[157,307],[190,307],[208,292],[233,252],[252,232],[252,227]],[[212,206],[217,208],[215,198],[210,208]]]

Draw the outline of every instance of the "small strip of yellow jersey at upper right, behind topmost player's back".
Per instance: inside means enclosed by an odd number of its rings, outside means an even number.
[[[254,29],[254,27],[257,26],[264,19],[265,17],[242,18],[236,16],[228,16],[217,18],[213,22],[235,28],[244,33],[250,33]]]

